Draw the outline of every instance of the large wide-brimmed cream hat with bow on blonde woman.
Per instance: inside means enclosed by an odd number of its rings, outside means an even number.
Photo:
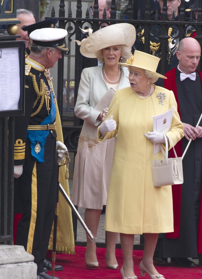
[[[83,33],[88,32],[89,36],[81,42],[77,40],[75,42],[80,45],[80,53],[89,58],[96,58],[97,51],[113,45],[123,44],[132,47],[136,38],[135,27],[129,23],[109,25],[94,33],[90,28],[81,30]]]

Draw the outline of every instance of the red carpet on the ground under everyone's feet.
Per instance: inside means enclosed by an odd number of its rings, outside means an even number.
[[[97,258],[99,261],[99,268],[87,269],[85,268],[84,253],[85,247],[75,247],[76,255],[59,254],[56,256],[57,264],[63,265],[62,271],[55,272],[55,276],[60,279],[122,279],[120,269],[122,267],[122,251],[116,249],[117,261],[119,268],[111,270],[106,268],[104,260],[104,248],[97,248]],[[142,259],[143,251],[134,250],[134,271],[138,279],[149,279],[149,275],[145,277],[140,276],[139,263]],[[163,274],[166,279],[202,279],[202,267],[195,268],[179,268],[174,266],[162,266],[155,264],[158,272]],[[50,272],[48,272],[50,274]]]

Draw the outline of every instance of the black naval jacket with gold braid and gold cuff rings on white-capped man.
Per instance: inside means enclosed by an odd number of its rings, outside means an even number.
[[[26,136],[28,125],[40,125],[48,116],[48,111],[50,112],[51,110],[51,99],[47,95],[47,90],[51,89],[51,84],[51,80],[48,80],[47,70],[44,69],[44,66],[29,57],[26,58],[25,116],[16,117],[15,121],[15,165],[24,165],[25,163],[25,142],[29,142],[29,138]],[[47,89],[45,89],[46,86]],[[50,130],[47,137],[56,138],[56,136],[56,131]]]

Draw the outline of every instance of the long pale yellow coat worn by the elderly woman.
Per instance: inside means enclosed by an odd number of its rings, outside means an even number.
[[[158,93],[165,93],[164,105]],[[168,134],[175,145],[183,137],[183,126],[172,91],[156,86],[146,99],[136,96],[131,87],[117,90],[108,115],[117,122],[112,172],[107,197],[105,230],[126,234],[163,233],[173,231],[171,186],[155,188],[152,183],[151,160],[155,159],[153,143],[144,136],[153,131],[153,116],[174,107]],[[157,158],[163,158],[161,152]]]

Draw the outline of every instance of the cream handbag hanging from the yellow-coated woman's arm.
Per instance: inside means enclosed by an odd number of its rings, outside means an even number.
[[[166,185],[175,185],[183,183],[182,158],[177,157],[172,140],[168,135],[165,138],[166,152],[164,152],[162,144],[161,151],[165,159],[151,161],[152,180],[154,187]],[[168,158],[168,140],[173,146],[175,158]],[[157,157],[157,154],[156,154]]]

